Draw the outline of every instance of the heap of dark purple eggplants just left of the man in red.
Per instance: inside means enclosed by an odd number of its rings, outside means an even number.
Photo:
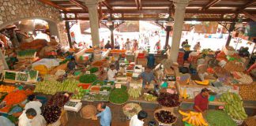
[[[166,107],[175,107],[179,106],[180,104],[179,95],[170,93],[160,93],[157,98],[157,102],[159,102],[160,105]]]

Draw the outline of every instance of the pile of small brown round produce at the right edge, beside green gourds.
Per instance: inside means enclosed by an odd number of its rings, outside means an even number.
[[[243,100],[256,101],[256,84],[239,85],[239,95]]]

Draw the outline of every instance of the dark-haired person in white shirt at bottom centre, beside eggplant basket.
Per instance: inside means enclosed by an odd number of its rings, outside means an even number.
[[[143,126],[144,120],[148,117],[148,113],[145,111],[141,110],[137,115],[134,115],[130,119],[130,124],[129,126]]]

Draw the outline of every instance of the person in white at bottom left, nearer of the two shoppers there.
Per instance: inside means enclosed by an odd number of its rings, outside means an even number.
[[[23,111],[21,116],[19,117],[18,126],[46,126],[47,122],[44,120],[42,115],[36,114],[35,109],[27,109]]]

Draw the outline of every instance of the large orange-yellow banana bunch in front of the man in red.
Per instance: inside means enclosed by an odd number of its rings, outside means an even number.
[[[193,126],[208,126],[209,124],[205,122],[204,117],[202,117],[201,113],[195,113],[190,111],[190,113],[184,113],[179,110],[179,113],[185,116],[183,121],[186,121],[188,124],[192,124]]]

